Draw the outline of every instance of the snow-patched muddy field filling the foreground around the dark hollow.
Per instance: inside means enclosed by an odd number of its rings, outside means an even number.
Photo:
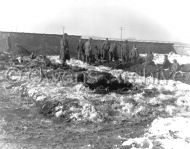
[[[180,64],[189,59],[169,55],[171,61],[174,58]],[[58,61],[57,57],[51,59]],[[163,55],[155,55],[155,63],[162,60]],[[114,76],[122,73],[137,91],[102,95],[80,83],[63,86],[47,80],[11,85],[1,71],[0,148],[190,148],[188,84],[174,80],[156,80],[153,84],[152,78],[145,82],[144,77],[134,72],[90,66],[75,59],[68,64]],[[67,107],[57,106],[55,115],[48,118],[39,114],[38,103],[43,101],[59,101]]]

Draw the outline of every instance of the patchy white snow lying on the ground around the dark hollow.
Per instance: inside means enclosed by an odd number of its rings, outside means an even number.
[[[50,57],[52,61],[60,62],[58,56]],[[163,62],[164,55],[155,54],[155,63]],[[169,60],[177,59],[180,64],[189,63],[188,56],[180,56],[170,53]],[[133,72],[112,70],[105,66],[90,66],[81,61],[71,59],[67,62],[72,66],[80,66],[89,70],[106,71],[114,76],[122,74],[123,79],[141,86],[143,91],[136,94],[119,95],[115,93],[107,95],[92,94],[82,84],[74,86],[62,86],[46,81],[36,84],[26,82],[21,87],[13,88],[14,91],[27,92],[36,101],[59,100],[67,98],[77,99],[80,108],[70,107],[71,118],[76,120],[88,120],[101,122],[99,111],[92,104],[93,101],[114,101],[110,110],[116,112],[112,118],[114,121],[123,119],[138,119],[152,116],[155,119],[140,138],[125,139],[123,146],[149,149],[189,149],[190,148],[190,85],[173,80],[158,80],[152,83],[151,79],[145,79]],[[102,111],[101,111],[102,112]],[[57,108],[55,116],[63,114],[62,107]],[[109,116],[108,113],[106,116]]]

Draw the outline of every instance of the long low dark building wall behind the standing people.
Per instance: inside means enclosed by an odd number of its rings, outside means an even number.
[[[21,33],[21,32],[3,32],[0,31],[0,51],[16,52],[16,44],[22,45],[30,52],[42,55],[57,55],[60,49],[60,39],[62,35],[57,34],[38,34],[38,33]],[[69,35],[69,47],[72,57],[76,57],[77,42],[80,36]],[[92,37],[93,38],[93,37]],[[83,38],[83,40],[86,40]],[[111,40],[111,39],[110,39]],[[111,40],[112,42],[113,40]],[[116,40],[120,53],[121,41]],[[147,50],[152,50],[155,53],[169,53],[175,52],[174,43],[158,42],[158,41],[142,41],[142,40],[128,40],[129,46],[135,44],[140,53],[146,53]],[[101,47],[103,39],[93,38],[93,45]]]

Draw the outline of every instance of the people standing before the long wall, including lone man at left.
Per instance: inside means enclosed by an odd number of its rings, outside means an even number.
[[[70,59],[69,44],[67,34],[63,35],[60,41],[60,59],[63,63]],[[95,61],[118,61],[118,43],[116,41],[110,42],[108,38],[102,43],[102,45],[95,45],[92,43],[92,38],[87,41],[83,41],[81,38],[77,44],[77,57],[79,60],[85,61],[87,63],[92,63]],[[124,41],[121,44],[121,59],[122,62],[136,63],[139,58],[139,52],[134,45],[132,49],[129,48],[128,41]]]

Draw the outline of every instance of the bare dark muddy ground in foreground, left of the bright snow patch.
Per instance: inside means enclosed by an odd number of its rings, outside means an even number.
[[[151,121],[65,122],[47,119],[29,97],[14,94],[0,82],[0,148],[122,148],[123,140],[140,137]]]

